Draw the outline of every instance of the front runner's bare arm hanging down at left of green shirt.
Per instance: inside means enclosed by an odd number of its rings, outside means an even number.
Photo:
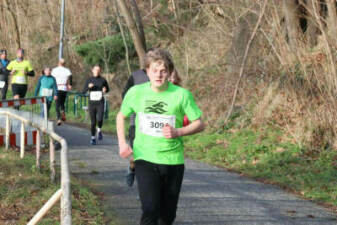
[[[131,147],[126,143],[125,119],[126,119],[126,116],[124,116],[122,112],[119,112],[117,114],[116,128],[117,128],[117,137],[118,137],[118,145],[119,145],[119,155],[122,158],[127,158],[132,154]]]

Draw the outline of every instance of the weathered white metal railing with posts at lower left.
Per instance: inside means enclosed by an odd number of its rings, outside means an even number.
[[[50,179],[55,182],[55,146],[54,141],[61,144],[61,188],[47,201],[47,203],[35,214],[35,216],[27,223],[27,225],[37,224],[46,213],[61,199],[61,225],[71,225],[71,186],[70,186],[70,171],[68,162],[68,146],[64,138],[57,135],[54,131],[43,127],[40,124],[34,123],[22,116],[16,115],[9,111],[2,111],[0,115],[6,116],[6,135],[5,146],[9,148],[10,143],[10,119],[21,121],[21,144],[20,144],[20,157],[23,158],[25,154],[25,126],[34,127],[37,130],[36,135],[36,167],[40,169],[41,165],[41,137],[43,134],[49,136],[49,159],[50,159]]]

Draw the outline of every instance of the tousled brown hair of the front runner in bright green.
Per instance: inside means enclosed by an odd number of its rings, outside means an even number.
[[[158,61],[163,62],[165,68],[169,71],[169,73],[173,72],[174,64],[171,54],[167,50],[160,48],[155,48],[152,51],[146,53],[145,68],[149,68],[151,63]]]

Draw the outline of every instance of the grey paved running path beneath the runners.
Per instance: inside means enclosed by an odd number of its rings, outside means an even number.
[[[116,139],[105,136],[92,147],[86,129],[62,125],[56,132],[68,141],[72,173],[105,194],[105,213],[117,217],[118,225],[138,224],[137,188],[125,184],[128,162],[119,158]],[[272,185],[187,160],[175,224],[337,225],[336,218],[336,214]]]

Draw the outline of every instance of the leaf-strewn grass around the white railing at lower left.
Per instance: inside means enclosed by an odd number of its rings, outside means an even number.
[[[49,180],[48,163],[35,168],[33,155],[20,159],[18,152],[0,149],[0,224],[27,224],[43,204],[60,188]],[[72,177],[73,224],[105,224],[99,197]],[[41,225],[60,224],[56,204]]]

